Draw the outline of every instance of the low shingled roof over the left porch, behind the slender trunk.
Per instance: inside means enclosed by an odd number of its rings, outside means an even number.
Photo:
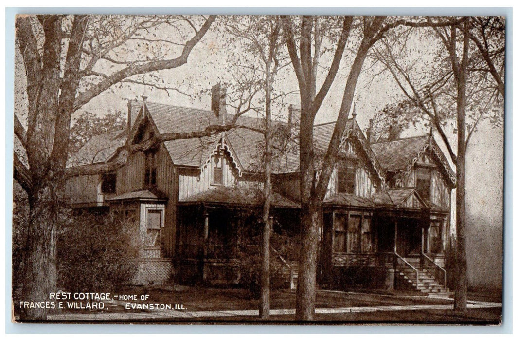
[[[215,187],[205,192],[195,194],[179,200],[179,204],[214,203],[233,204],[243,206],[260,206],[263,203],[263,192],[259,189],[243,187]],[[299,208],[300,205],[281,196],[278,193],[271,195],[272,207]]]

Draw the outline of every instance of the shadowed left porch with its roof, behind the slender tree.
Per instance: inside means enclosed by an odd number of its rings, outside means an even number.
[[[210,191],[210,192],[209,192]],[[177,276],[183,283],[238,284],[241,268],[260,260],[262,199],[256,190],[218,187],[179,203]],[[298,238],[297,205],[272,195],[272,256],[289,267]]]

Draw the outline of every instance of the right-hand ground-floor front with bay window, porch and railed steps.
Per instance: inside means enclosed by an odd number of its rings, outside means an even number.
[[[417,209],[324,213],[323,284],[329,287],[445,289],[448,215]]]

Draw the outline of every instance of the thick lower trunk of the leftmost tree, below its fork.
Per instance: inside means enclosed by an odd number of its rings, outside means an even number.
[[[28,197],[29,225],[21,301],[49,301],[56,285],[57,198],[52,187],[34,190]],[[15,304],[19,302],[15,302]],[[22,309],[21,320],[46,320],[47,309]]]

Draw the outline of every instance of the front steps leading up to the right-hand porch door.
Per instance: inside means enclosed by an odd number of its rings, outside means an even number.
[[[415,283],[415,270],[408,266],[399,267],[395,271],[396,276],[398,276],[398,278],[396,278],[398,287],[402,287],[401,289],[417,290],[428,294],[449,293],[448,289],[444,288],[444,285],[439,283],[433,274],[427,269],[421,268],[419,258],[405,258],[405,260],[419,271],[419,282]]]

